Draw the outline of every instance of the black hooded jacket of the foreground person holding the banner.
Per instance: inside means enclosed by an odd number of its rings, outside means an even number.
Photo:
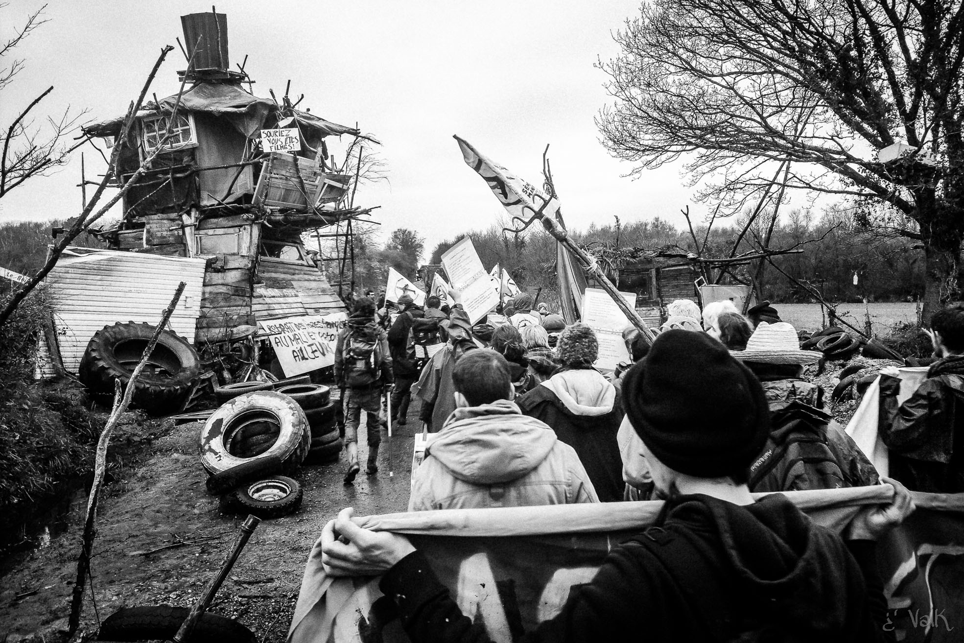
[[[879,641],[886,604],[874,555],[870,541],[844,545],[779,494],[747,506],[678,496],[661,523],[612,549],[592,581],[574,586],[560,614],[515,640]],[[489,640],[418,551],[383,576],[381,589],[395,597],[415,643]]]

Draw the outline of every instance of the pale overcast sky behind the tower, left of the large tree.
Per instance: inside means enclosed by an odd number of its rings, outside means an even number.
[[[0,34],[7,37],[42,4],[13,0],[0,9]],[[503,212],[463,162],[453,134],[534,184],[542,182],[549,144],[570,228],[612,223],[613,216],[624,223],[661,216],[684,225],[679,211],[690,191],[680,167],[626,177],[631,165],[608,155],[594,122],[611,101],[605,74],[594,65],[618,54],[612,34],[639,6],[639,0],[234,0],[217,10],[228,14],[232,65],[248,56],[254,94],[273,89],[280,97],[290,79],[292,96],[305,94],[300,107],[358,123],[382,142],[376,150],[388,182],[362,186],[356,205],[381,206],[374,218],[385,236],[395,228],[417,230],[428,258],[438,242],[488,228]],[[0,124],[50,85],[39,115],[67,105],[89,109],[91,121],[120,115],[165,44],[175,48],[151,92],[176,94],[176,70],[185,67],[174,40],[184,40],[179,16],[210,9],[183,1],[50,3],[49,22],[13,53],[26,67],[0,99]],[[342,162],[349,137],[328,141]],[[102,174],[99,154],[82,147],[60,172],[4,197],[0,221],[75,216],[80,151],[88,177]]]

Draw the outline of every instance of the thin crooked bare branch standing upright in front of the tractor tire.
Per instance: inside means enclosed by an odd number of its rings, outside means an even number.
[[[120,421],[120,415],[123,415],[127,410],[127,406],[134,396],[134,385],[137,382],[137,378],[139,378],[144,371],[147,358],[149,358],[150,354],[154,351],[154,347],[157,345],[157,339],[164,331],[164,327],[167,326],[168,320],[171,319],[174,308],[177,307],[177,302],[180,300],[180,296],[184,292],[186,285],[187,283],[184,281],[181,281],[177,285],[177,289],[174,291],[174,298],[171,300],[170,306],[168,306],[161,315],[161,321],[154,329],[154,334],[150,335],[150,340],[147,342],[144,354],[141,355],[141,361],[137,362],[134,372],[131,373],[130,380],[127,381],[127,386],[124,388],[122,397],[120,395],[120,379],[114,381],[114,408],[111,410],[110,417],[107,418],[107,424],[104,425],[104,430],[97,439],[97,452],[94,460],[94,484],[91,486],[91,495],[87,498],[87,517],[84,520],[84,533],[81,540],[80,555],[77,557],[77,579],[73,585],[73,596],[70,600],[70,616],[67,620],[69,636],[73,636],[80,625],[80,612],[84,601],[84,587],[87,584],[87,576],[91,568],[91,553],[94,549],[94,521],[97,515],[97,500],[100,498],[100,488],[104,483],[104,471],[107,469],[107,447],[111,442],[111,434]]]

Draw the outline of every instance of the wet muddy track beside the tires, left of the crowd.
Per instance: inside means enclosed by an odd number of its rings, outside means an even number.
[[[301,509],[263,521],[222,586],[211,611],[238,619],[259,641],[283,641],[298,597],[308,551],[325,522],[342,507],[356,514],[405,511],[409,498],[417,404],[406,426],[395,426],[390,449],[383,437],[379,472],[366,476],[368,448],[360,433],[362,472],[344,485],[342,452],[330,465],[304,466],[293,476],[305,491]],[[167,420],[170,422],[170,420]],[[91,640],[98,626],[122,606],[191,606],[221,565],[243,516],[222,515],[218,497],[204,488],[198,459],[201,423],[171,428],[147,447],[147,462],[126,469],[107,488],[97,518],[92,575],[85,592],[81,632]],[[136,430],[136,429],[132,429]],[[383,436],[384,436],[383,430]],[[15,554],[0,567],[0,641],[62,640],[86,498],[76,496],[67,531],[49,544]],[[174,546],[174,547],[169,547]]]

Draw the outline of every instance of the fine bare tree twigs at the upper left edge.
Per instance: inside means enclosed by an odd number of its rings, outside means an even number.
[[[7,4],[0,4],[0,9],[6,9]],[[3,61],[0,63],[0,91],[8,89],[13,78],[25,67],[23,59],[8,57],[13,55],[13,49],[20,42],[46,22],[42,17],[45,8],[46,5],[43,5],[28,15],[23,26],[14,29],[9,39],[0,40],[0,61]],[[53,92],[53,89],[49,87],[33,98],[13,117],[9,125],[0,130],[3,132],[3,147],[0,151],[0,198],[31,176],[47,174],[67,162],[72,147],[66,139],[80,125],[87,110],[71,114],[67,107],[62,114],[46,117],[38,123],[33,116],[34,108]]]

